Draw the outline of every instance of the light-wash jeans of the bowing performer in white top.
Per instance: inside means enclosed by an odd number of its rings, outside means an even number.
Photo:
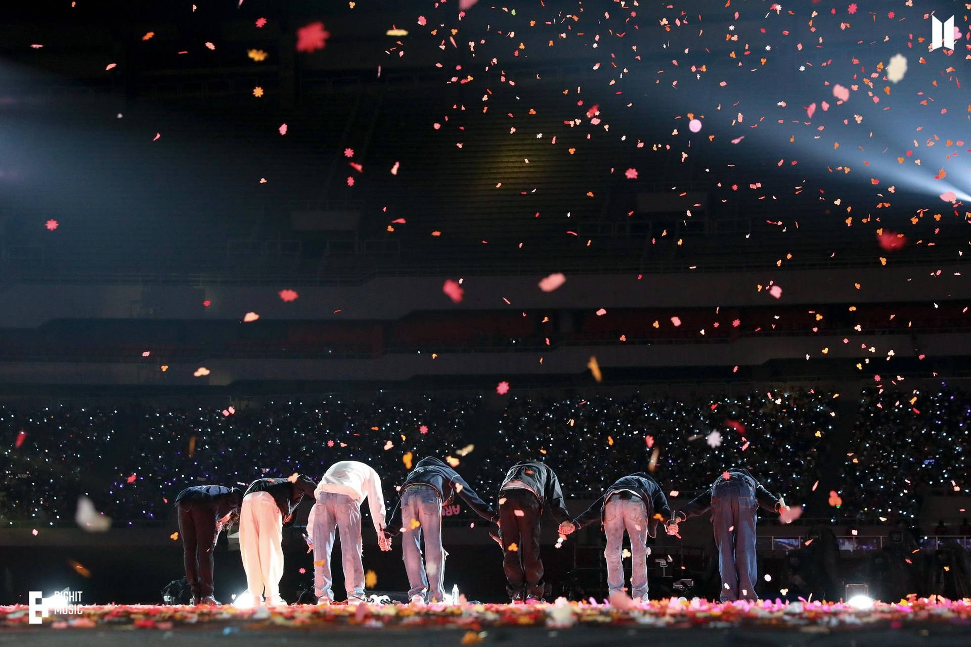
[[[347,495],[321,492],[314,504],[314,593],[333,601],[330,553],[335,531],[341,533],[344,559],[344,587],[348,599],[364,599],[364,563],[361,562],[361,511],[357,501]]]

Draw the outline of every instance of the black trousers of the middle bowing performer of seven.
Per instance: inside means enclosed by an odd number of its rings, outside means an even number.
[[[540,519],[543,506],[529,490],[499,493],[499,538],[504,552],[503,570],[512,598],[543,596],[543,562],[540,560]],[[515,544],[515,545],[514,545]]]

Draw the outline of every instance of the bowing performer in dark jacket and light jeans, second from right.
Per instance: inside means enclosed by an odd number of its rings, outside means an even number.
[[[595,521],[603,522],[607,534],[607,586],[610,593],[620,593],[623,587],[623,565],[621,563],[623,532],[630,538],[630,588],[631,598],[648,599],[648,535],[657,533],[657,522],[671,518],[671,508],[661,486],[644,471],[621,476],[614,482],[604,496],[594,501],[586,512],[572,522],[565,521],[559,526],[560,534],[571,534],[589,526]]]

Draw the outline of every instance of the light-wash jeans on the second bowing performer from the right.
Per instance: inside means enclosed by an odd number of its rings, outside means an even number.
[[[640,499],[612,497],[604,504],[607,534],[607,586],[612,594],[623,591],[623,532],[630,537],[630,597],[648,598],[648,509]]]

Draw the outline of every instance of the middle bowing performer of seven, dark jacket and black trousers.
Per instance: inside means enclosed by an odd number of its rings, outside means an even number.
[[[559,479],[552,469],[522,461],[506,472],[499,488],[499,540],[503,550],[506,592],[515,601],[540,600],[545,594],[540,559],[540,520],[549,505],[553,518],[570,520]]]

